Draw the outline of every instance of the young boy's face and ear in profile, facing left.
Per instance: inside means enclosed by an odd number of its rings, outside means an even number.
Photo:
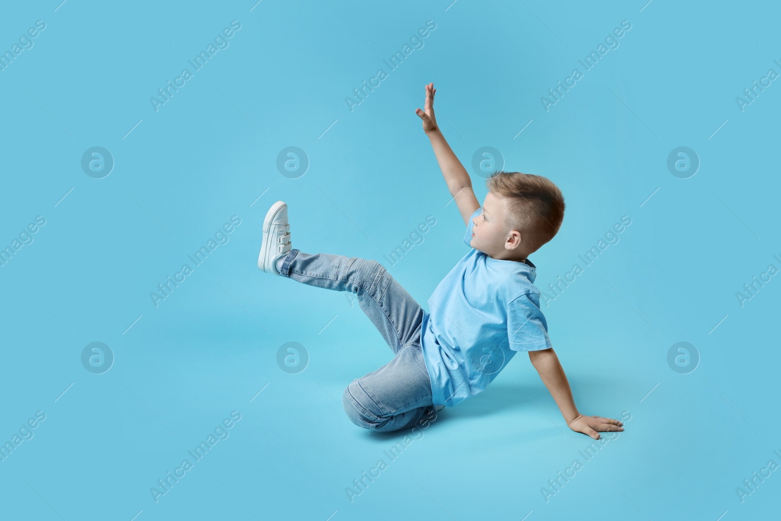
[[[520,239],[520,232],[505,226],[507,200],[488,192],[483,201],[483,213],[473,219],[472,241],[469,245],[492,259],[506,259],[517,251],[508,250]],[[510,241],[512,237],[512,241]]]

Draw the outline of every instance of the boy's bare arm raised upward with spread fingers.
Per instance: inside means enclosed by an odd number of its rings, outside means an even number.
[[[455,204],[458,205],[458,212],[464,219],[465,224],[469,224],[469,217],[480,208],[480,202],[475,197],[472,189],[472,180],[469,179],[469,173],[458,161],[455,153],[451,150],[448,141],[445,141],[440,128],[437,125],[437,119],[434,117],[434,94],[437,89],[434,84],[426,85],[426,105],[425,110],[415,109],[421,120],[423,120],[423,131],[431,141],[434,155],[437,156],[440,170],[444,176],[445,183],[448,184],[450,194],[455,198]]]

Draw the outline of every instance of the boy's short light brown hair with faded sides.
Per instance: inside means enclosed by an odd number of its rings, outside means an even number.
[[[486,180],[486,187],[507,199],[505,225],[521,232],[530,252],[558,233],[564,220],[564,196],[547,177],[497,170]]]

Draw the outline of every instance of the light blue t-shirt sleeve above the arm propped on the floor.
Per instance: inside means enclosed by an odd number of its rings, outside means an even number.
[[[522,294],[507,305],[507,334],[513,351],[538,351],[553,347],[547,336],[547,320],[540,310],[538,294]]]

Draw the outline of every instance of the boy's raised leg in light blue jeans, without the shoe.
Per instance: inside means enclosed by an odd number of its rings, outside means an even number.
[[[394,353],[413,341],[423,323],[423,308],[375,260],[308,254],[294,248],[285,255],[280,275],[310,286],[355,293],[361,309]]]

